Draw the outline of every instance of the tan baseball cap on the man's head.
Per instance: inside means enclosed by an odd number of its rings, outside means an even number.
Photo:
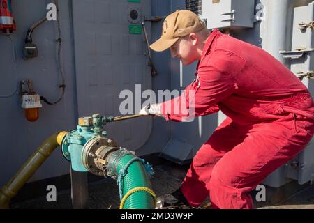
[[[179,37],[188,36],[204,28],[206,25],[195,13],[190,10],[177,10],[165,18],[161,37],[150,47],[154,51],[164,51],[174,45]]]

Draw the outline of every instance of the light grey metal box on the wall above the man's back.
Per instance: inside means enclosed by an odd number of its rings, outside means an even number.
[[[254,0],[203,0],[202,20],[207,29],[253,28]]]

